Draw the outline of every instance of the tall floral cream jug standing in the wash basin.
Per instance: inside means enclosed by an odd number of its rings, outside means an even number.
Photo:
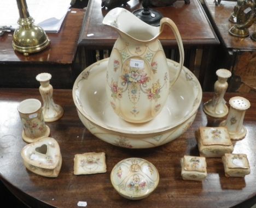
[[[177,26],[165,17],[160,27],[153,27],[123,8],[110,10],[103,24],[119,33],[106,75],[107,97],[114,112],[131,123],[152,120],[165,106],[169,89],[182,70],[184,50]],[[171,76],[158,40],[165,25],[172,29],[180,55],[178,70]]]

